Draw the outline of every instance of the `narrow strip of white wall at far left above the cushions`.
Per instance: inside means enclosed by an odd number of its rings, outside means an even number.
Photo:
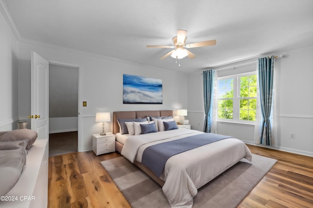
[[[18,41],[0,12],[0,131],[16,129],[19,120],[17,55]]]

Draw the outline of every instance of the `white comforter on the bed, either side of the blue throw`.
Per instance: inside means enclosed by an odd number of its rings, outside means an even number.
[[[141,162],[145,148],[199,133],[203,132],[178,129],[130,136],[121,154],[131,162]],[[171,207],[191,208],[197,189],[243,158],[251,161],[251,152],[242,141],[234,138],[223,139],[170,157],[160,178],[165,181],[162,189]]]

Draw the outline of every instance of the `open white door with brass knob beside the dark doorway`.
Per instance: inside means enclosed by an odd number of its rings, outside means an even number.
[[[31,129],[49,138],[49,63],[31,52]]]

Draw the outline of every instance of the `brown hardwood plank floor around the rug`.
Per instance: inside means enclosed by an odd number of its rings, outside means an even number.
[[[248,145],[277,163],[238,208],[312,208],[313,157]],[[93,151],[49,157],[48,208],[130,208]]]

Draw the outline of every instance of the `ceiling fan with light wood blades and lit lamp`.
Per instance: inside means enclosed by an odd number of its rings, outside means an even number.
[[[185,48],[196,48],[196,47],[210,46],[210,45],[216,44],[216,40],[206,40],[206,41],[191,43],[191,44],[186,45],[186,39],[187,39],[186,35],[187,35],[186,30],[177,30],[177,36],[175,36],[172,39],[174,46],[147,45],[147,48],[175,48],[174,50],[170,51],[168,54],[164,55],[163,57],[160,57],[160,60],[169,56],[176,58],[176,59],[180,59],[183,57],[189,57],[189,58],[196,57],[196,55],[194,55],[193,53],[191,53]]]

